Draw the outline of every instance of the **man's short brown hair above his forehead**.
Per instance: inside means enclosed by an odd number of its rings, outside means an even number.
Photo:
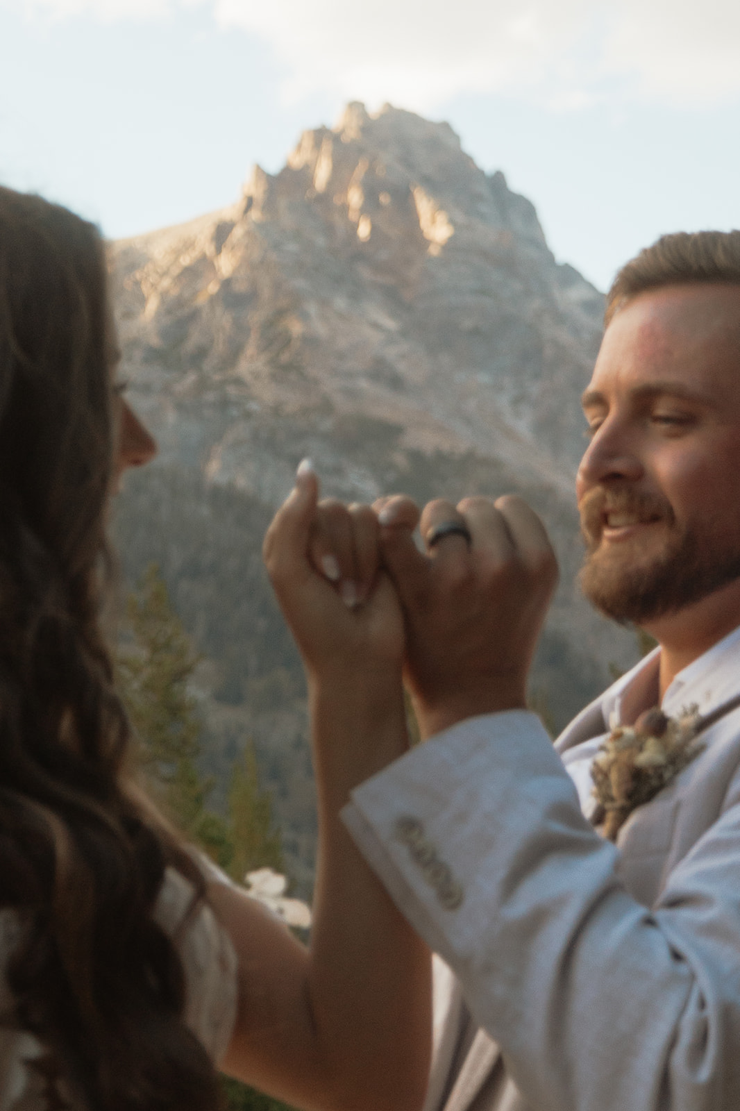
[[[607,294],[604,324],[649,289],[689,282],[740,286],[740,231],[677,231],[630,259]]]

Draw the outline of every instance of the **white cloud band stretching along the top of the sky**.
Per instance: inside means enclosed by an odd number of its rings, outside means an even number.
[[[163,19],[209,7],[259,37],[283,93],[428,111],[460,93],[577,108],[602,97],[701,103],[740,93],[738,0],[0,0],[53,18]]]

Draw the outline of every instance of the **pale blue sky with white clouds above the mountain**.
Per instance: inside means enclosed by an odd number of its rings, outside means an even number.
[[[448,120],[600,289],[740,227],[738,0],[0,0],[0,181],[110,238],[230,203],[350,100]]]

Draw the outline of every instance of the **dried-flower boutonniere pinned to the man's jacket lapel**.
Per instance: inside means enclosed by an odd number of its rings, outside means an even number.
[[[641,713],[633,725],[612,729],[591,764],[593,795],[599,803],[592,821],[594,825],[603,822],[604,837],[616,841],[632,811],[654,799],[703,751],[697,734],[708,723],[696,705],[677,718],[668,718],[654,707]]]

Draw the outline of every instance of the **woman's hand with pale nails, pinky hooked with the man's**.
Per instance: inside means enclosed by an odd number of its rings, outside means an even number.
[[[403,619],[379,539],[368,506],[319,503],[316,472],[301,463],[262,554],[309,678],[400,677]]]

